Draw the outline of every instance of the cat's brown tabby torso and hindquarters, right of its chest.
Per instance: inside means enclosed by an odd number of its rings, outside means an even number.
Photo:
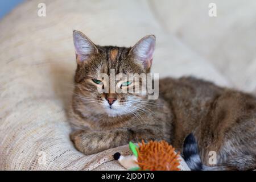
[[[210,151],[216,152],[217,165],[204,169],[256,169],[254,96],[195,78],[165,78],[159,90],[175,116],[176,148],[181,151],[184,138],[193,133],[204,164],[209,166]]]

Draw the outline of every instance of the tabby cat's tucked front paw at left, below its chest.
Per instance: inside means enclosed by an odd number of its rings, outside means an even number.
[[[85,155],[96,154],[108,149],[102,144],[102,134],[95,132],[75,131],[71,134],[71,140],[75,144],[77,150]]]

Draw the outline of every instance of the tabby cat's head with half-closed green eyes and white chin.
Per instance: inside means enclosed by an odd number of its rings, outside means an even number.
[[[116,93],[109,90],[110,79],[100,78],[100,73],[110,76],[110,72],[149,73],[155,49],[155,36],[148,35],[133,47],[97,46],[80,31],[73,31],[76,50],[77,70],[73,100],[89,106],[98,114],[117,115],[133,114],[145,110],[147,93]],[[137,82],[138,84],[138,82]],[[139,82],[141,84],[141,82]],[[108,86],[108,93],[98,92]],[[127,80],[114,81],[115,88],[132,90],[136,82]]]

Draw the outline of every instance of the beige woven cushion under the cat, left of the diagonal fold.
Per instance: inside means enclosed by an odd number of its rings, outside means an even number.
[[[153,71],[231,85],[198,53],[164,30],[147,1],[41,1],[18,6],[0,22],[0,169],[123,169],[113,161],[127,146],[85,156],[69,140],[67,110],[75,52],[72,30],[94,43],[132,46],[155,34]],[[182,162],[181,169],[188,169]]]

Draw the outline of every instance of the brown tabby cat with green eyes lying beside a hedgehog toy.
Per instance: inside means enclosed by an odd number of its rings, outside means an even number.
[[[160,79],[156,100],[148,100],[147,93],[99,93],[108,83],[98,75],[109,75],[110,69],[150,73],[155,36],[133,47],[97,46],[73,31],[73,41],[77,69],[69,116],[77,150],[90,155],[129,141],[164,139],[183,150],[192,170],[256,168],[254,96],[194,77]],[[133,89],[127,83],[116,84]],[[209,163],[210,151],[216,152],[215,165]]]

